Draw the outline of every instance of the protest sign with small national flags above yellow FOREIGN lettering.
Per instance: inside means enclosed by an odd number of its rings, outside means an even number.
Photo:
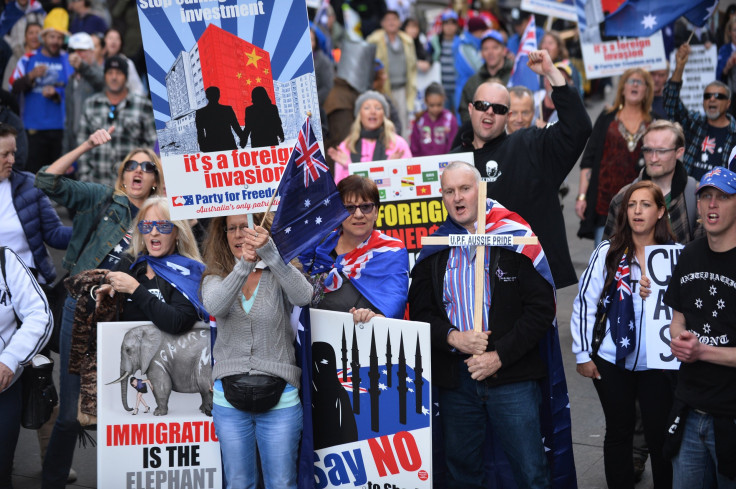
[[[381,199],[376,229],[404,242],[410,267],[422,248],[422,236],[435,232],[447,218],[440,193],[440,175],[451,161],[472,165],[473,153],[350,165],[351,174],[376,182]]]

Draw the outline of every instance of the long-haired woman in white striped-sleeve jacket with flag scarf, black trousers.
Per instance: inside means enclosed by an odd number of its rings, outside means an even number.
[[[633,488],[634,403],[638,399],[655,488],[672,487],[662,454],[672,385],[647,367],[644,303],[639,296],[644,248],[674,242],[662,191],[649,180],[625,192],[616,230],[580,277],[570,320],[577,371],[593,379],[606,417],[603,459],[608,487]]]

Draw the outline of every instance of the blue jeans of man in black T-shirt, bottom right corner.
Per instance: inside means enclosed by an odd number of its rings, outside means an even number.
[[[716,487],[735,489],[736,479],[718,473],[713,417],[690,411],[685,419],[680,452],[672,459],[673,489]]]

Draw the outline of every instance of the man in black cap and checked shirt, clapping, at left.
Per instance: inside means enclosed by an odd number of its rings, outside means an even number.
[[[108,144],[97,146],[79,158],[79,179],[111,187],[117,167],[132,149],[152,148],[156,143],[153,107],[147,97],[127,88],[128,62],[122,56],[105,60],[105,90],[84,103],[77,132],[77,144],[86,141],[100,128],[115,126]]]

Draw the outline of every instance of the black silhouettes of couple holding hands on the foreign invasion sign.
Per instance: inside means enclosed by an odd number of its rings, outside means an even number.
[[[284,142],[284,129],[275,104],[271,103],[268,92],[263,87],[255,87],[251,92],[252,105],[245,108],[245,127],[241,128],[235,111],[229,105],[220,103],[220,89],[212,86],[205,90],[207,105],[197,110],[197,142],[204,152],[228,151],[237,149],[235,133],[240,138],[240,147],[248,144],[251,148],[276,146]]]

